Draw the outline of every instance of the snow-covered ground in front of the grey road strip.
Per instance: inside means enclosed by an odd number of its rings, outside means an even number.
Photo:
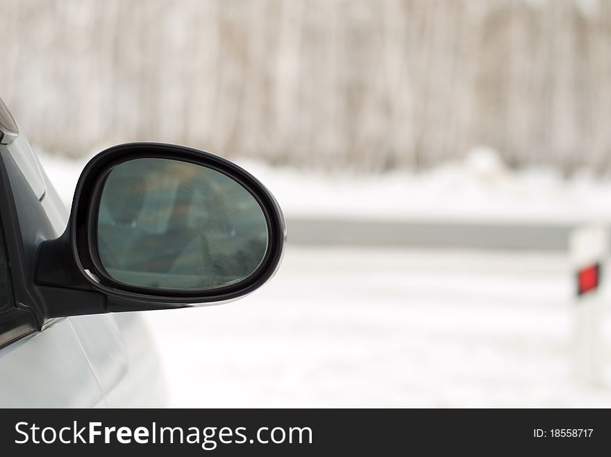
[[[253,295],[147,319],[172,406],[609,407],[571,379],[570,298],[560,254],[290,247]]]

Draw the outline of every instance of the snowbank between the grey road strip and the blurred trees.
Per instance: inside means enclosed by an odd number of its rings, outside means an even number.
[[[39,156],[60,196],[71,201],[88,157]],[[485,148],[464,162],[417,174],[325,174],[237,162],[269,187],[288,217],[611,223],[611,180],[595,180],[587,173],[564,180],[550,169],[509,171]]]

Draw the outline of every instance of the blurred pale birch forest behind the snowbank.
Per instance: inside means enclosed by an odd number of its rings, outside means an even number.
[[[605,0],[3,0],[35,146],[172,141],[274,164],[609,171]]]

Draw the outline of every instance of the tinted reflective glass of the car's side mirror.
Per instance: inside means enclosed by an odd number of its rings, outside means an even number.
[[[210,290],[253,273],[267,251],[265,215],[249,191],[205,166],[141,158],[104,184],[99,256],[131,286]]]

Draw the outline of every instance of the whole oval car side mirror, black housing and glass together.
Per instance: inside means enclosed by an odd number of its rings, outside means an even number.
[[[239,166],[183,146],[115,146],[85,166],[65,233],[40,245],[41,317],[235,300],[274,275],[284,245],[280,207]]]

